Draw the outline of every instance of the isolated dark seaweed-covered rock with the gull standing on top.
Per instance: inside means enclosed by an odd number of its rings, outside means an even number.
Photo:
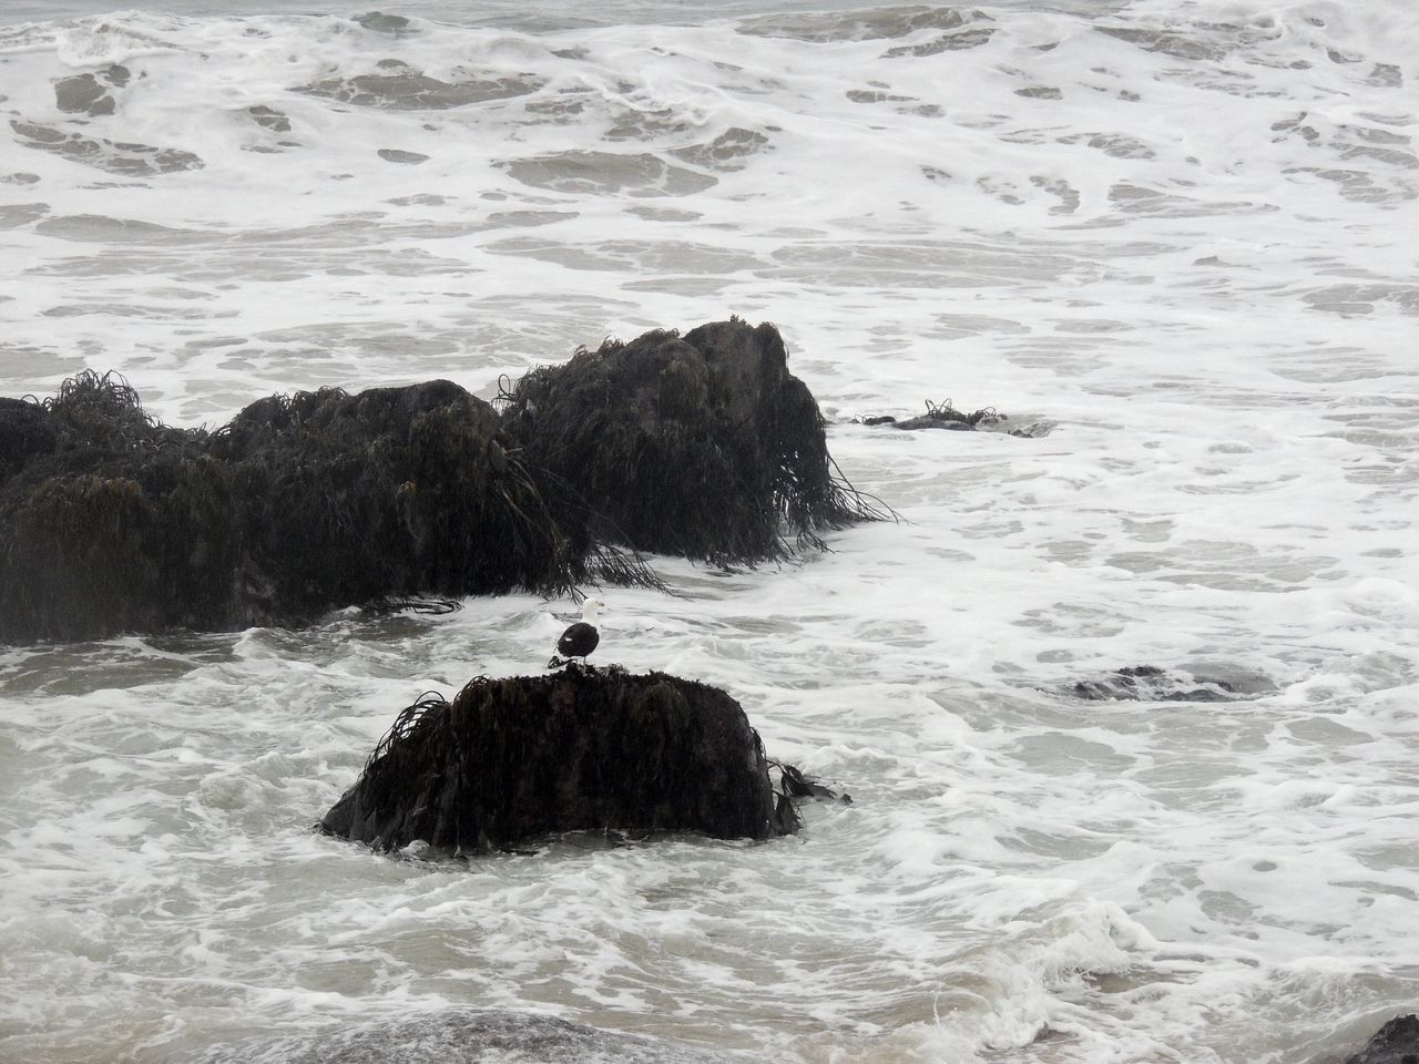
[[[394,850],[477,853],[579,830],[796,830],[758,732],[715,687],[569,665],[471,681],[400,712],[326,834]]]

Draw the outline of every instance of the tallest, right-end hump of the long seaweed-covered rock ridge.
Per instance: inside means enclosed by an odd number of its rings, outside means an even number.
[[[607,340],[505,399],[528,464],[585,499],[600,538],[636,550],[759,562],[877,516],[833,475],[817,403],[769,323]]]

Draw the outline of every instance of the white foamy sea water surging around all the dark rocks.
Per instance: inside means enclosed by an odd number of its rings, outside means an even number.
[[[1419,9],[0,16],[0,394],[491,396],[738,314],[901,515],[602,590],[600,663],[724,685],[851,793],[763,846],[311,833],[570,603],[0,648],[0,1061],[478,1006],[792,1064],[1320,1064],[1419,1003]],[[948,397],[1026,433],[851,423]],[[1073,691],[1139,664],[1232,697]]]

